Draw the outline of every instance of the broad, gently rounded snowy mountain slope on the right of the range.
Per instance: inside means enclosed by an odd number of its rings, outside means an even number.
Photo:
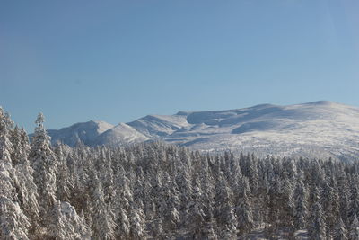
[[[258,154],[359,155],[359,109],[335,102],[259,105],[233,111],[192,113],[199,129],[166,137],[202,150],[236,149]],[[192,118],[192,119],[191,119]]]

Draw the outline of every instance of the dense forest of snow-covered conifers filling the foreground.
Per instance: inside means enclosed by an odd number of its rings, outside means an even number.
[[[52,147],[0,108],[0,239],[359,239],[359,163],[205,155],[160,142]]]

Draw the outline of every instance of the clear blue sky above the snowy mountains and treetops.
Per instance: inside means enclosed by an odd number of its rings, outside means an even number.
[[[359,106],[357,0],[3,0],[0,105],[32,132],[147,114]]]

